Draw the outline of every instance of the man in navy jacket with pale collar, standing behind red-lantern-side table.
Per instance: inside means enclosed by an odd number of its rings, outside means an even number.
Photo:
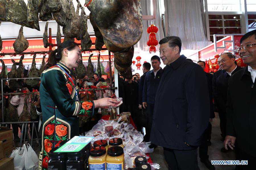
[[[150,70],[146,74],[142,95],[143,108],[146,109],[147,114],[147,127],[145,127],[146,135],[144,136],[144,141],[146,142],[150,141],[156,91],[163,73],[163,69],[160,67],[161,61],[158,56],[155,55],[151,57],[151,64],[153,70]],[[152,144],[149,147],[156,148],[156,145]]]

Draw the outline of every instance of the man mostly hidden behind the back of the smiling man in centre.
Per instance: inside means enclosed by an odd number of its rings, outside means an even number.
[[[198,61],[197,64],[205,70],[205,62],[204,61]],[[212,74],[205,72],[205,76],[207,78],[207,84],[208,84],[208,91],[209,91],[209,101],[210,101],[210,119],[208,123],[208,127],[205,130],[205,133],[203,135],[203,143],[201,146],[199,146],[199,158],[201,162],[205,164],[205,166],[208,169],[214,170],[214,165],[211,164],[209,161],[208,156],[208,145],[211,145],[211,133],[212,133],[212,120],[215,117],[214,110],[213,110],[213,97],[212,97]]]

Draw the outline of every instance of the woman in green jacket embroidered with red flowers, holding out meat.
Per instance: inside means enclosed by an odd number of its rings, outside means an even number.
[[[112,98],[79,101],[78,87],[71,69],[81,60],[79,46],[65,41],[49,54],[41,75],[40,100],[43,115],[42,152],[39,169],[48,169],[49,152],[63,140],[79,136],[78,116],[93,116],[94,109],[114,106]]]

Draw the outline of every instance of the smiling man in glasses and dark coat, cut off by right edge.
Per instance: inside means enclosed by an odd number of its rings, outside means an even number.
[[[240,43],[239,55],[248,66],[229,79],[224,146],[234,149],[237,142],[238,160],[248,161],[238,169],[251,170],[256,167],[256,30],[243,35]]]

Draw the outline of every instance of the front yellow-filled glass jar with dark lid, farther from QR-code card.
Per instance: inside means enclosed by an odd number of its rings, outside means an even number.
[[[120,146],[112,146],[108,149],[106,158],[107,170],[122,170],[124,164],[123,148]]]

